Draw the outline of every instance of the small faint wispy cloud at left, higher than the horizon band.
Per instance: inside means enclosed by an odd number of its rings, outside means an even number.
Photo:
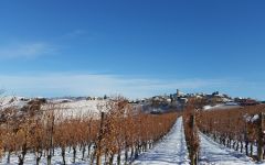
[[[54,52],[55,48],[44,42],[13,43],[0,46],[0,58],[35,58]]]

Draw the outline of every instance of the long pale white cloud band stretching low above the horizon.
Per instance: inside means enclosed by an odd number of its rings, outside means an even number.
[[[50,74],[38,76],[0,76],[8,91],[25,96],[104,96],[121,94],[130,98],[151,97],[165,92],[202,90],[231,86],[223,79],[160,80],[116,75]]]

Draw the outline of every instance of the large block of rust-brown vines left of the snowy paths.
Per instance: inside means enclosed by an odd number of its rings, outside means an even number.
[[[31,164],[75,164],[77,160],[127,164],[165,136],[178,117],[142,113],[123,98],[105,107],[107,111],[100,116],[89,111],[77,116],[52,103],[29,107],[24,112],[6,109],[0,127],[1,162],[22,165],[30,155],[34,157]],[[54,162],[59,155],[61,161]],[[11,161],[14,156],[18,161]]]

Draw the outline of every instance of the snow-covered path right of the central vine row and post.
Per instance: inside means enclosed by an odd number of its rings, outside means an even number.
[[[200,133],[201,151],[200,165],[252,165],[250,157],[218,144],[206,135]]]

